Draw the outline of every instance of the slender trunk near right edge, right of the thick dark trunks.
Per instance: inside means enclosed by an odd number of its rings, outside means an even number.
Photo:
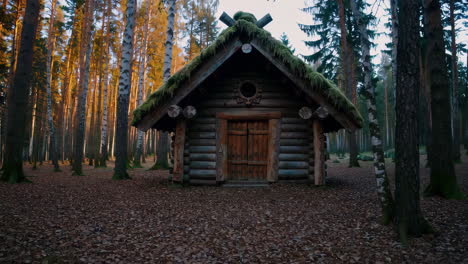
[[[452,53],[452,89],[453,89],[453,160],[461,162],[460,155],[460,104],[458,96],[458,65],[457,65],[457,45],[456,45],[456,30],[455,30],[455,0],[450,0],[450,34]]]

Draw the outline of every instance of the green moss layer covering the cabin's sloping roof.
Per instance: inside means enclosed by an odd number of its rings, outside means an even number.
[[[226,46],[229,41],[237,36],[244,35],[248,38],[256,39],[262,45],[262,48],[282,61],[292,73],[306,83],[310,83],[309,88],[312,91],[322,95],[338,111],[346,113],[348,117],[354,119],[354,122],[362,126],[363,119],[359,111],[341,90],[322,74],[314,71],[301,59],[294,56],[288,47],[281,43],[281,41],[273,38],[268,31],[256,26],[255,22],[257,19],[255,16],[250,13],[238,12],[234,15],[234,19],[236,23],[233,26],[225,29],[213,44],[204,49],[198,57],[194,58],[169,78],[165,84],[159,87],[142,105],[133,111],[132,125],[138,125],[145,115],[155,110],[166,100],[172,98],[174,93],[190,79],[191,74]]]

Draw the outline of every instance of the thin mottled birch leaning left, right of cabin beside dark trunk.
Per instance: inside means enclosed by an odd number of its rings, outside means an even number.
[[[380,135],[380,126],[377,120],[375,88],[372,86],[371,79],[373,70],[370,55],[370,41],[366,25],[362,21],[361,11],[358,9],[356,1],[350,1],[350,4],[353,15],[356,18],[362,47],[364,87],[361,93],[366,97],[367,112],[369,116],[369,131],[371,136],[372,152],[374,153],[374,172],[377,182],[377,195],[382,206],[383,222],[388,224],[393,218],[394,203],[385,170],[382,136]]]

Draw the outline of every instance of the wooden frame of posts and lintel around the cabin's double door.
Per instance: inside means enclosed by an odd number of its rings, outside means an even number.
[[[228,120],[268,120],[267,181],[278,181],[278,154],[281,134],[281,112],[234,111],[216,114],[216,181],[229,179],[227,123]]]

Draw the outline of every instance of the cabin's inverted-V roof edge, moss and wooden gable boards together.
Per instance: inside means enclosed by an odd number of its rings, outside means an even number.
[[[312,70],[301,59],[271,34],[255,24],[239,19],[224,30],[217,40],[200,56],[174,74],[163,86],[133,112],[132,125],[147,130],[166,113],[167,107],[177,104],[201,82],[239,50],[242,42],[249,42],[272,64],[290,78],[305,94],[324,105],[343,127],[355,130],[363,119],[346,96],[320,73]]]

